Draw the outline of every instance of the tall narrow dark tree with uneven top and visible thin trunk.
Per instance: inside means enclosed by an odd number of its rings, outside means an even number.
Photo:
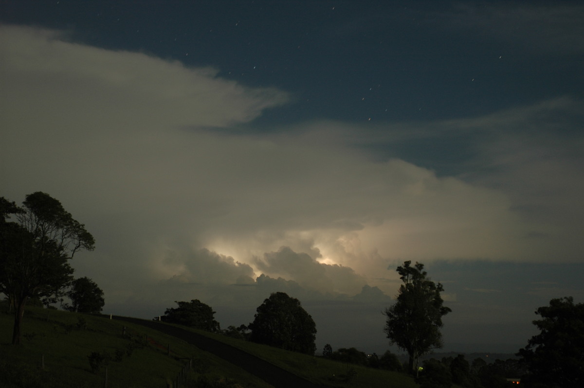
[[[385,333],[390,344],[408,352],[409,370],[418,371],[418,359],[430,350],[442,348],[442,316],[451,312],[443,306],[442,284],[435,284],[423,271],[424,265],[405,261],[397,272],[403,284],[399,286],[397,302],[385,309]]]

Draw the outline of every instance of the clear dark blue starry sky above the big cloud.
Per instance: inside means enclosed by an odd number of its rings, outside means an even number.
[[[582,97],[581,50],[554,47],[571,43],[561,35],[569,21],[513,20],[522,2],[468,4],[471,11],[435,1],[20,1],[4,2],[1,18],[293,93],[294,103],[264,115],[266,125],[472,117]],[[497,6],[511,10],[510,26],[489,11]],[[550,33],[559,42],[540,41]]]

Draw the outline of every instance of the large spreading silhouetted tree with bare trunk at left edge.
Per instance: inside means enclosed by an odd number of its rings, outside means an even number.
[[[79,250],[93,250],[93,236],[61,202],[37,191],[23,208],[0,200],[0,292],[15,307],[12,343],[20,343],[20,323],[30,298],[48,298],[71,281],[68,260]],[[17,222],[7,222],[9,215]]]

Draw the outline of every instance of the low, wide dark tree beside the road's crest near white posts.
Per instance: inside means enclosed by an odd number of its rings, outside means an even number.
[[[182,324],[199,328],[201,330],[220,331],[219,323],[214,319],[215,312],[211,306],[206,305],[199,299],[192,299],[190,302],[177,302],[176,309],[166,309],[161,320],[168,323]]]

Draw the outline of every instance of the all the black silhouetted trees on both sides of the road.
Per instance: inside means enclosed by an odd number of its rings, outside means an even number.
[[[16,221],[12,221],[15,218]],[[74,312],[100,312],[105,303],[103,291],[87,277],[74,279],[69,261],[81,250],[94,249],[95,240],[61,202],[37,191],[26,195],[22,207],[0,197],[0,292],[6,295],[14,313],[12,344],[20,342],[20,324],[26,303],[42,301],[47,306],[61,302]],[[506,380],[485,380],[500,376],[492,368],[505,367],[506,373],[522,374],[530,387],[580,387],[584,380],[584,304],[572,297],[552,299],[550,306],[539,307],[534,320],[540,334],[517,352],[520,363],[472,365],[464,356],[419,365],[421,356],[443,346],[442,317],[451,312],[443,306],[442,284],[434,283],[422,263],[405,261],[397,267],[402,284],[394,305],[385,309],[384,331],[390,344],[408,354],[406,373],[416,376],[422,386],[449,387],[452,383],[468,388],[506,386]],[[64,303],[63,296],[71,300]],[[213,309],[198,299],[176,302],[166,309],[162,321],[282,349],[314,355],[317,328],[301,306],[300,300],[284,292],[274,292],[256,309],[252,323],[221,330]],[[350,363],[400,370],[395,355],[364,355],[355,348],[338,349],[331,345],[323,355]],[[513,365],[510,368],[509,365]],[[491,368],[491,369],[489,369]],[[471,372],[475,372],[474,374]],[[481,372],[482,371],[482,372]],[[499,373],[499,374],[497,374]],[[519,376],[516,376],[519,377]],[[508,384],[507,384],[508,385]]]

